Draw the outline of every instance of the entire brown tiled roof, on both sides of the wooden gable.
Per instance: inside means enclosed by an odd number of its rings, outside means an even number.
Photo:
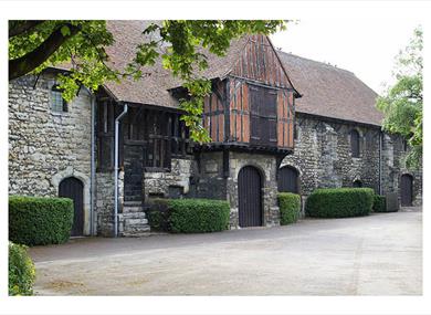
[[[109,63],[123,70],[133,60],[136,45],[145,40],[143,30],[154,21],[108,21],[115,43],[106,48]],[[207,53],[209,67],[203,71],[208,78],[223,78],[239,59],[248,38],[234,40],[223,57]],[[160,48],[162,50],[162,48]],[[277,51],[278,56],[295,88],[303,95],[296,99],[296,112],[380,125],[382,114],[375,107],[377,94],[354,73],[325,63]],[[181,86],[171,73],[161,66],[160,60],[154,66],[143,70],[148,73],[139,81],[122,80],[107,83],[106,88],[118,101],[178,107],[169,88]]]

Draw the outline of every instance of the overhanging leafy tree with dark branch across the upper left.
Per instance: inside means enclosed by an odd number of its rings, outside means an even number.
[[[143,30],[156,33],[156,40],[143,42],[137,53],[124,70],[109,65],[105,46],[114,42],[106,29],[106,21],[10,21],[9,22],[9,80],[28,73],[40,73],[46,66],[71,63],[69,75],[60,75],[63,96],[71,101],[80,85],[96,91],[107,81],[119,81],[125,76],[139,80],[146,65],[161,57],[164,67],[183,82],[189,92],[180,99],[186,111],[181,117],[197,141],[210,140],[201,126],[203,98],[211,92],[211,82],[199,76],[199,70],[208,67],[202,48],[222,56],[233,39],[246,33],[270,34],[285,29],[286,21],[246,20],[166,20],[151,23]],[[164,44],[166,50],[159,52]]]

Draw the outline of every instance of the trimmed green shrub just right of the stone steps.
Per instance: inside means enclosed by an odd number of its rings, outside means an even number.
[[[174,199],[169,201],[169,225],[172,232],[199,233],[227,230],[229,202],[210,199]]]

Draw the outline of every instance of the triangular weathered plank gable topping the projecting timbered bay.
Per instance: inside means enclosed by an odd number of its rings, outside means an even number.
[[[230,74],[271,86],[292,88],[278,56],[265,35],[250,35]]]

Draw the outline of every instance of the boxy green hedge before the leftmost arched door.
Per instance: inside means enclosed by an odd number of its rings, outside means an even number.
[[[71,235],[73,201],[67,198],[9,197],[9,240],[18,244],[64,243]]]

